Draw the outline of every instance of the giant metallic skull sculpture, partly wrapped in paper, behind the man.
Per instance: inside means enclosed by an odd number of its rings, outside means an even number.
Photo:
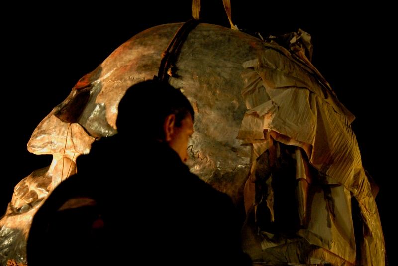
[[[78,156],[89,153],[96,139],[117,133],[120,99],[131,85],[157,75],[162,52],[180,26],[157,26],[122,44],[37,126],[28,149],[52,154],[53,162],[15,187],[0,222],[0,237],[8,241],[0,244],[3,261],[26,260],[32,215],[76,172]],[[305,32],[294,38],[310,47]],[[367,229],[361,263],[384,264],[377,207],[350,127],[354,117],[303,48],[288,51],[237,30],[199,24],[174,67],[169,83],[196,112],[191,171],[244,206],[244,248],[254,261],[354,264],[353,195]],[[284,185],[291,190],[281,190]],[[293,199],[295,214],[278,209],[283,198]],[[289,215],[298,225],[291,235],[273,225],[286,224],[280,217]]]

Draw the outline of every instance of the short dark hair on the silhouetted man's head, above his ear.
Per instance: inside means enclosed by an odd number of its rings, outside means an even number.
[[[188,115],[194,120],[194,109],[181,91],[157,80],[131,86],[118,109],[118,132],[145,138],[164,139],[163,125],[168,115],[176,115],[176,127]]]

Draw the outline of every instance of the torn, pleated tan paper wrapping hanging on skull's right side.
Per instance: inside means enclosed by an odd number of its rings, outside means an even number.
[[[284,157],[278,155],[279,145],[275,143],[296,146],[291,158],[296,160],[295,196],[302,228],[296,235],[320,247],[311,251],[311,256],[333,265],[355,264],[351,218],[353,195],[359,202],[367,228],[361,247],[361,263],[384,265],[380,219],[350,126],[354,116],[338,101],[304,54],[295,58],[281,46],[269,43],[267,46],[273,49],[260,51],[257,59],[242,64],[252,70],[242,75],[245,82],[242,97],[249,110],[237,137],[245,143],[253,143],[254,149],[252,174],[245,186],[246,213],[254,213],[258,224],[263,200],[276,203],[276,199],[270,199],[274,197],[270,180],[276,170],[268,170],[269,176],[261,181],[256,176],[257,164],[264,156],[261,152],[269,153],[269,161],[265,162],[272,165],[272,149],[277,147],[275,162],[278,164]],[[262,149],[259,149],[259,143]],[[316,169],[317,173],[314,175],[310,168]],[[262,189],[260,197],[259,188],[264,186],[269,188]],[[277,211],[273,204],[267,203],[268,210],[263,210],[269,212],[271,222]],[[277,240],[277,236],[270,237],[269,234],[259,234],[262,236],[263,261],[266,261],[266,251],[271,251],[269,248],[275,250],[279,245],[293,241],[292,238]]]

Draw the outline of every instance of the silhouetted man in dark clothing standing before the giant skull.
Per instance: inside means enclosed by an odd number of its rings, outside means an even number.
[[[193,119],[169,84],[132,86],[119,133],[93,144],[34,217],[29,266],[251,265],[229,197],[183,164]]]

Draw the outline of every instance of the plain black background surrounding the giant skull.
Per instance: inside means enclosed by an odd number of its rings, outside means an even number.
[[[26,149],[38,123],[113,50],[140,31],[191,18],[190,0],[13,4],[2,10],[2,175],[0,212],[13,187],[51,156]],[[385,2],[232,0],[232,20],[263,36],[301,28],[312,36],[312,63],[356,116],[362,161],[380,187],[376,198],[393,265],[396,209],[393,111],[394,35]],[[229,27],[221,0],[202,0],[204,22]],[[396,68],[396,67],[395,67]],[[1,214],[0,214],[1,215]]]

